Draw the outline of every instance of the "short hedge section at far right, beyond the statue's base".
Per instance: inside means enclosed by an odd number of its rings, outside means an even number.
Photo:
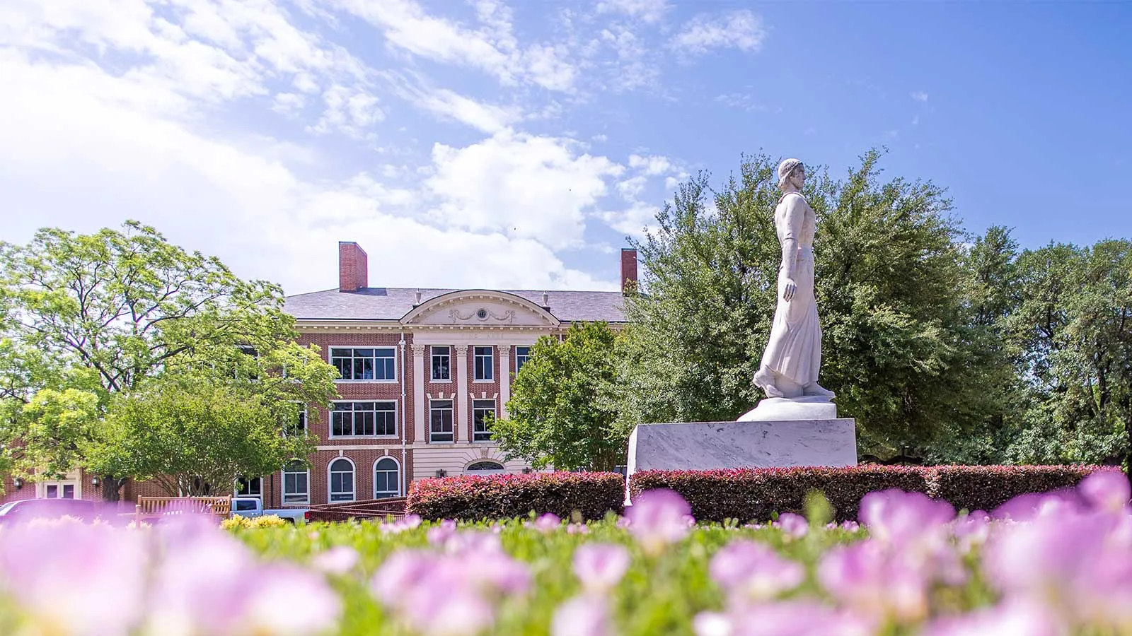
[[[945,499],[957,510],[993,512],[1029,492],[1074,488],[1105,466],[932,466],[928,495]]]

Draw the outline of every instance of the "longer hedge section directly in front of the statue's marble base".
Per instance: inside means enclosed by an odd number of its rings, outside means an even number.
[[[670,488],[692,505],[697,521],[769,521],[774,513],[805,512],[806,493],[820,490],[837,521],[857,518],[861,497],[899,488],[926,492],[924,472],[904,466],[734,469],[717,471],[643,471],[629,479],[635,498],[645,490]]]

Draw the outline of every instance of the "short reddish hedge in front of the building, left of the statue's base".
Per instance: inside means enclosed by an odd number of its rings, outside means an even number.
[[[620,514],[625,479],[620,473],[528,473],[434,478],[409,489],[410,514],[426,519],[479,521],[554,513],[584,519]]]

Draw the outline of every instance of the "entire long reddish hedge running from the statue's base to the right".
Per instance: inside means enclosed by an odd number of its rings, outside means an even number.
[[[629,493],[669,488],[692,505],[696,519],[765,522],[775,513],[803,514],[806,493],[822,491],[837,521],[857,518],[861,498],[899,488],[945,499],[955,509],[992,512],[1019,495],[1072,488],[1107,466],[848,466],[643,471]]]

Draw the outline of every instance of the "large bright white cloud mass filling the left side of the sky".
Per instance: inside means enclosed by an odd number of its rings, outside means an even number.
[[[380,162],[334,177],[329,152],[222,132],[232,126],[217,106],[261,95],[241,108],[306,104],[314,128],[365,136],[383,117],[375,74],[273,3],[174,2],[161,18],[129,0],[0,5],[9,43],[0,49],[0,239],[138,218],[290,293],[335,285],[338,240],[366,247],[375,285],[616,287],[554,250],[580,239],[582,214],[621,166],[567,139],[500,134],[468,148],[438,145],[427,183],[394,187],[412,167]],[[319,98],[325,110],[314,108]],[[482,183],[460,191],[469,179]],[[438,222],[447,215],[458,222]]]

